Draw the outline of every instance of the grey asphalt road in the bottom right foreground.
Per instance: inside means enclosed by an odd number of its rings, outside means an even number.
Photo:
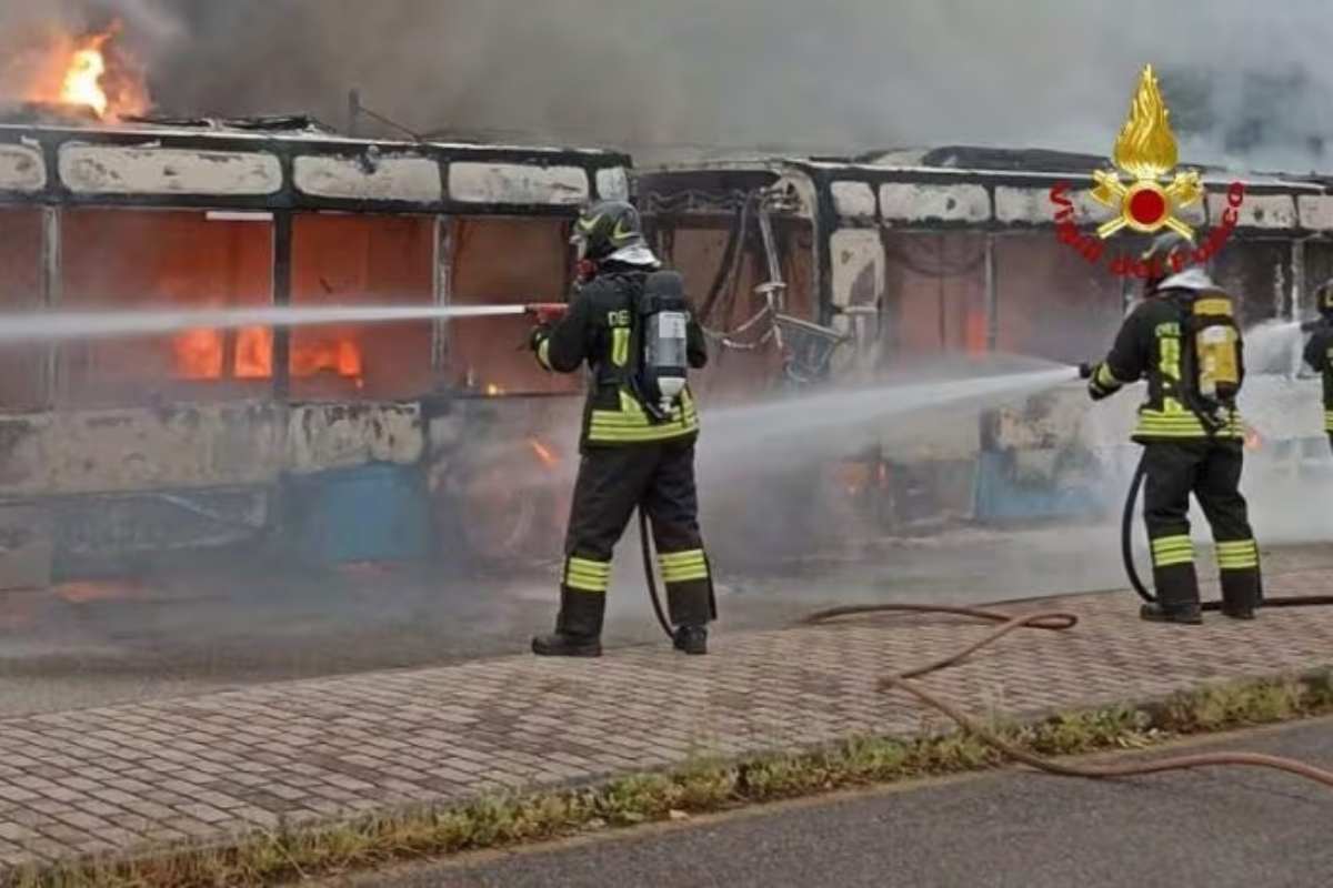
[[[1330,767],[1333,720],[1192,748],[1265,751]],[[1322,888],[1333,884],[1330,817],[1333,791],[1252,768],[1117,783],[1008,771],[331,884]]]

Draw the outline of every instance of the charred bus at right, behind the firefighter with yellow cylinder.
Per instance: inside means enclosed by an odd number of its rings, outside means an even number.
[[[1089,189],[1105,160],[1053,150],[944,146],[858,157],[760,157],[640,170],[640,201],[661,254],[704,294],[724,361],[778,359],[754,318],[804,314],[802,371],[866,381],[944,355],[1098,358],[1138,284],[1060,242],[1050,189],[1069,182],[1080,228],[1105,209]],[[1204,170],[1190,225],[1217,225],[1233,177]],[[1242,324],[1302,317],[1305,293],[1333,276],[1333,194],[1313,177],[1242,177],[1238,226],[1213,262]],[[1134,250],[1130,236],[1117,248]],[[825,332],[820,335],[820,332]],[[777,333],[781,326],[777,328]],[[724,346],[725,350],[725,346]],[[789,347],[788,351],[792,351]],[[796,351],[801,354],[800,349]],[[1324,461],[1313,383],[1293,349],[1252,366],[1248,415],[1264,455]],[[720,381],[734,385],[726,378]],[[1118,505],[1137,449],[1137,399],[1089,410],[1078,385],[977,411],[881,423],[848,450],[840,487],[884,529],[949,519],[1088,515]],[[820,521],[812,519],[812,527]]]

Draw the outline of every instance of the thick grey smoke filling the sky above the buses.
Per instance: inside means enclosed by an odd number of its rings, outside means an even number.
[[[926,144],[1105,154],[1145,63],[1189,160],[1326,165],[1318,0],[0,0],[9,40],[119,15],[173,113],[347,120],[356,87],[415,132],[852,153]],[[381,130],[383,132],[383,130]]]

